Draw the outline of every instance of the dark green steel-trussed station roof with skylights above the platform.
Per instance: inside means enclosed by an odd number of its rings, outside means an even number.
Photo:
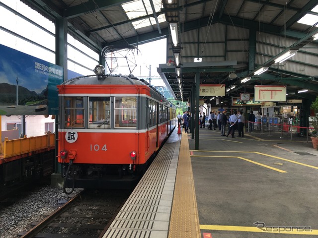
[[[98,53],[167,37],[158,72],[177,100],[189,101],[197,73],[200,83],[235,85],[228,99],[255,85],[287,85],[290,99],[318,96],[317,0],[22,1],[52,21],[66,18],[69,33]],[[296,55],[278,62],[285,53]],[[262,67],[267,71],[255,74]]]

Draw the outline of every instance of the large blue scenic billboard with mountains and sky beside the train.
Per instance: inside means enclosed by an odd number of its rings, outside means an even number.
[[[0,45],[0,115],[57,115],[63,67]]]

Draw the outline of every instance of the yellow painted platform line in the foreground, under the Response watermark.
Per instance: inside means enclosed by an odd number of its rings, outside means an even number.
[[[214,230],[214,231],[233,231],[233,232],[261,232],[261,233],[276,233],[276,234],[293,234],[293,235],[318,235],[318,230],[302,231],[305,229],[291,228],[287,226],[288,230],[282,231],[283,227],[271,228],[257,228],[257,227],[239,227],[239,226],[216,226],[216,225],[200,225],[201,230]]]

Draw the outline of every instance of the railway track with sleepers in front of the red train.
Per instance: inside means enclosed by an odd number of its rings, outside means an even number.
[[[131,190],[83,190],[21,238],[98,238],[119,212]]]

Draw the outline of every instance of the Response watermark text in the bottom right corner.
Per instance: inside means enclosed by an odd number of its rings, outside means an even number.
[[[263,232],[272,233],[292,233],[292,232],[312,232],[310,226],[266,226],[264,222],[254,222],[253,224]]]

